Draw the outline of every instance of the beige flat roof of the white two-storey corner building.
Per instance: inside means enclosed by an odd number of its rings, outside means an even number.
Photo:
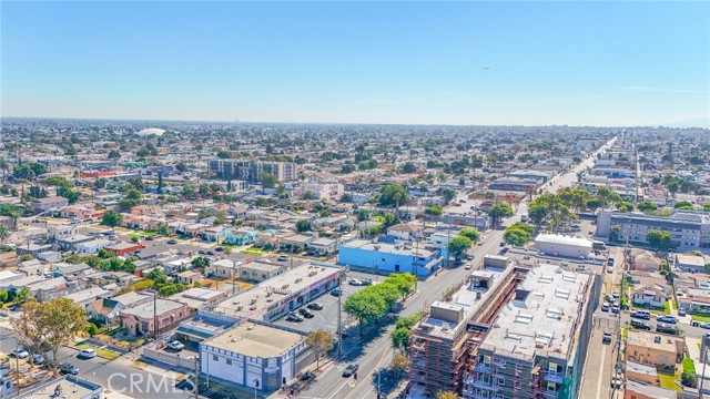
[[[244,356],[270,358],[284,355],[304,339],[300,334],[246,321],[205,340],[204,345]]]

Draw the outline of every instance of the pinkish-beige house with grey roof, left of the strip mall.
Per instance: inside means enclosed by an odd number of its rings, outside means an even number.
[[[190,315],[191,311],[185,304],[169,299],[154,299],[154,303],[150,301],[120,310],[119,319],[121,325],[128,328],[129,334],[140,336],[152,335],[156,329],[158,332],[166,331]],[[158,320],[158,326],[154,320]]]

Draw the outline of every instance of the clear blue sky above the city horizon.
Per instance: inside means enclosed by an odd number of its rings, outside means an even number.
[[[528,125],[710,119],[707,1],[0,7],[3,116]]]

